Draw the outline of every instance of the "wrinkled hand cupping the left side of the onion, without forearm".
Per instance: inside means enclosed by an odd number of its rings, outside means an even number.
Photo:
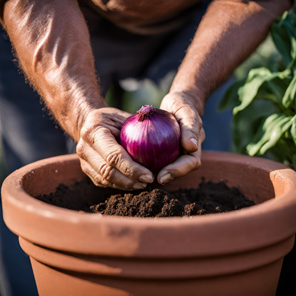
[[[129,116],[128,112],[105,107],[91,110],[84,120],[76,151],[83,172],[96,186],[139,190],[154,180],[153,174],[134,162],[116,141]]]

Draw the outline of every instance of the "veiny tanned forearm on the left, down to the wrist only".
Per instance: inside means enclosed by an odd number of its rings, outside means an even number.
[[[77,1],[10,0],[4,6],[3,23],[30,83],[62,128],[78,141],[87,112],[106,104]]]

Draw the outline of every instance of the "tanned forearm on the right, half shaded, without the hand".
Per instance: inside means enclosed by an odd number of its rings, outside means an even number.
[[[264,40],[290,0],[213,1],[173,81],[170,92],[185,93],[202,115],[207,96]]]

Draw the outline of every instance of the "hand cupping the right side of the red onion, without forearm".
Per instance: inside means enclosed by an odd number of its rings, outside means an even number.
[[[193,100],[186,94],[168,93],[163,98],[160,109],[170,112],[179,121],[184,150],[184,155],[158,173],[157,181],[164,185],[200,167],[201,144],[205,140],[205,131]]]

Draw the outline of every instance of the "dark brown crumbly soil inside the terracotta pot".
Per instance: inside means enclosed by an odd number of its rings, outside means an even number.
[[[170,217],[223,213],[255,205],[239,189],[224,182],[202,182],[198,189],[166,192],[152,186],[126,193],[102,189],[88,179],[73,186],[61,184],[56,192],[36,197],[71,210],[130,217]]]

